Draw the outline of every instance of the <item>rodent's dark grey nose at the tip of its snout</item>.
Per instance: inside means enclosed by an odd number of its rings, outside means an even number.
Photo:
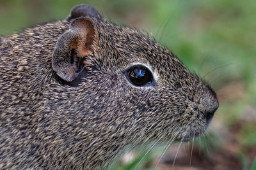
[[[209,123],[212,120],[214,112],[219,107],[219,102],[218,102],[218,99],[216,97],[216,94],[214,94],[214,97],[211,100],[207,101],[207,104],[205,103],[204,105],[205,105],[206,120],[207,120],[207,123]]]

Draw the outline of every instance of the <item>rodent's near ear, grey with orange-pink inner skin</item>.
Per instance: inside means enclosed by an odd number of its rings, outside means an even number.
[[[97,42],[98,33],[92,20],[84,17],[72,20],[70,29],[56,43],[52,54],[52,69],[63,80],[74,80],[84,69],[84,57],[95,52],[94,45]]]

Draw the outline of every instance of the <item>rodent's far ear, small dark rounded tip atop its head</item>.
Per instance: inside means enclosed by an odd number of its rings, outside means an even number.
[[[70,21],[79,17],[93,17],[97,19],[102,19],[100,13],[88,4],[79,4],[77,6],[74,6],[66,20]]]

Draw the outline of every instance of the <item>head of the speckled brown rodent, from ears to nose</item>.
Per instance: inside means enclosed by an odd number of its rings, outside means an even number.
[[[202,134],[218,108],[211,87],[154,39],[86,8],[74,8],[52,55],[63,89],[76,96],[76,121],[85,117],[122,146]]]

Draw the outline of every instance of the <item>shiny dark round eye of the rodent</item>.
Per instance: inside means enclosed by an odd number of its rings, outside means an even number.
[[[133,66],[127,70],[131,83],[136,86],[143,86],[152,83],[152,74],[145,66]]]

